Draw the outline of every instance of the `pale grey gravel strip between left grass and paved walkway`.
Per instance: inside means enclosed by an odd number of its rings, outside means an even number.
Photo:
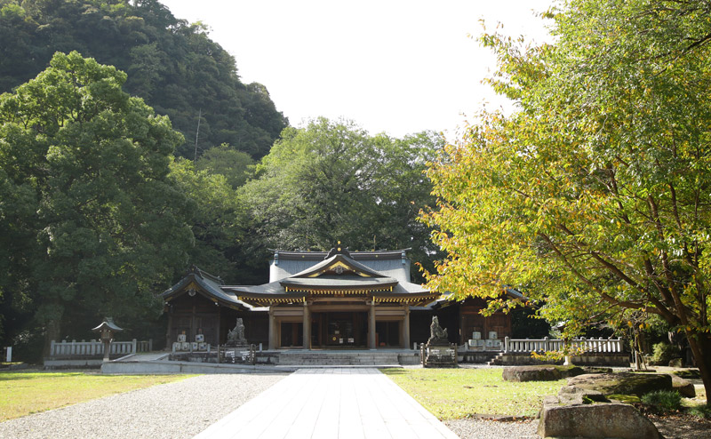
[[[284,376],[201,375],[11,419],[0,438],[190,438]]]

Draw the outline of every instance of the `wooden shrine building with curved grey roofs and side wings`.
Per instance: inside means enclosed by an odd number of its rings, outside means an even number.
[[[509,315],[483,317],[483,299],[453,301],[411,283],[405,251],[275,251],[269,282],[225,285],[197,267],[164,291],[167,346],[186,334],[224,344],[242,317],[246,338],[275,349],[401,348],[424,342],[437,315],[451,342],[510,335]],[[508,291],[509,294],[517,294]]]

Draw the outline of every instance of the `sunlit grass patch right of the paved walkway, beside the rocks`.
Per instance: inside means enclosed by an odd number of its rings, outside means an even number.
[[[534,416],[543,397],[557,395],[565,379],[515,383],[502,369],[384,369],[390,379],[439,419],[470,414]]]

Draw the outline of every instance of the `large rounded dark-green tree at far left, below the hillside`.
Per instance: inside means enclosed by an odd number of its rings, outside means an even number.
[[[57,53],[0,96],[0,235],[11,249],[0,263],[47,340],[77,315],[159,315],[156,286],[187,263],[189,204],[168,179],[182,136],[123,92],[125,79]]]

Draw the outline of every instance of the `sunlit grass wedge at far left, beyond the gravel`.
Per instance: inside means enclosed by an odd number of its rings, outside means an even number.
[[[0,372],[0,422],[191,375],[100,375],[85,372]]]

